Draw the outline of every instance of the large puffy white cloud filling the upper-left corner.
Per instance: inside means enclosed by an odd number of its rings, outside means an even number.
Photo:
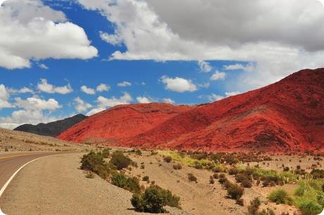
[[[0,67],[30,67],[30,60],[89,59],[98,51],[82,27],[40,0],[8,0],[0,7]]]

